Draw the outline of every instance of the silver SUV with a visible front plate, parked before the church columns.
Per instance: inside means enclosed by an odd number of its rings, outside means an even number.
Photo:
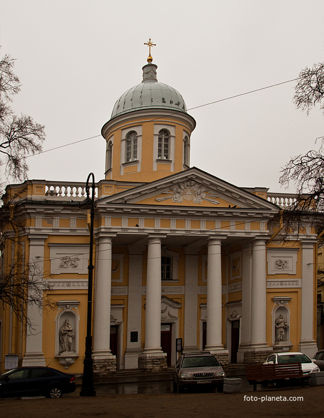
[[[173,368],[173,391],[181,393],[184,388],[207,386],[223,392],[225,376],[221,364],[211,353],[184,353]]]

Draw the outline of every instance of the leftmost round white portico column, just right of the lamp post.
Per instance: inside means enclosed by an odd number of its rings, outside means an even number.
[[[93,358],[112,357],[110,351],[111,237],[99,237],[96,249]]]

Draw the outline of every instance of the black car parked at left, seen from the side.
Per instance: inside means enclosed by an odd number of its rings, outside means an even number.
[[[0,376],[0,397],[46,396],[60,398],[74,392],[75,377],[51,367],[19,367]]]

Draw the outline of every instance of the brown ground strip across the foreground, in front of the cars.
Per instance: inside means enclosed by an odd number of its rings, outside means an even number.
[[[0,417],[323,417],[323,396],[324,386],[315,386],[240,393],[1,399]]]

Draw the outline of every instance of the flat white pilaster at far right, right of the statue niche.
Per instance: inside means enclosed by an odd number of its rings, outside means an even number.
[[[302,239],[302,263],[301,263],[301,321],[300,342],[298,350],[311,358],[317,351],[314,340],[314,247],[316,239]]]

